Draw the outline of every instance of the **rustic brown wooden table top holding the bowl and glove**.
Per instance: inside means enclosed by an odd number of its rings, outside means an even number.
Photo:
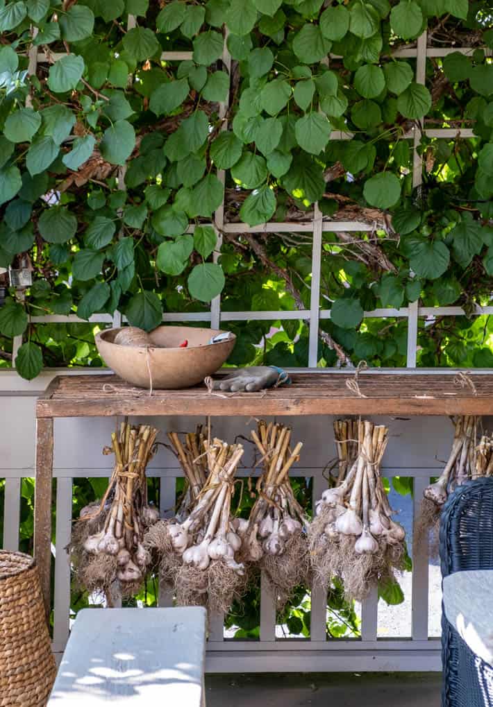
[[[61,375],[37,400],[38,418],[112,415],[489,415],[493,373],[294,373],[291,385],[249,393],[205,386],[149,391],[115,375]],[[349,385],[348,385],[349,382]],[[359,390],[358,390],[359,387]]]

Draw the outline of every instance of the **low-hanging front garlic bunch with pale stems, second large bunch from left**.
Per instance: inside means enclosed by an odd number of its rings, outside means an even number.
[[[168,551],[179,557],[173,578],[178,604],[207,604],[211,610],[226,611],[244,585],[244,566],[236,559],[241,539],[236,532],[238,524],[231,518],[234,476],[243,446],[227,445],[216,438],[212,443],[203,440],[203,448],[207,480],[194,492],[185,520],[166,525]],[[197,457],[194,463],[196,472]],[[190,464],[187,466],[190,474]],[[147,547],[155,534],[151,529]]]

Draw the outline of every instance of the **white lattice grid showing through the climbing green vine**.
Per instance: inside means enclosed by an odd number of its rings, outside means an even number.
[[[136,20],[129,16],[128,27],[135,26]],[[425,83],[426,62],[431,57],[446,57],[452,52],[461,52],[462,54],[470,55],[474,52],[475,47],[427,47],[427,33],[424,32],[418,37],[417,47],[402,47],[393,52],[394,57],[407,59],[416,59],[416,81],[417,83]],[[489,51],[491,54],[491,51]],[[64,54],[50,54],[50,57],[44,52],[37,52],[36,47],[33,47],[29,52],[29,67],[28,73],[34,74],[37,63],[45,63],[50,60],[57,61]],[[335,55],[327,57],[337,58]],[[163,52],[161,59],[168,62],[183,61],[192,59],[192,52]],[[222,56],[224,66],[231,76],[231,56],[226,45],[226,35],[224,37],[224,52]],[[228,92],[228,96],[229,96]],[[221,103],[219,115],[225,118],[228,112],[228,103]],[[221,129],[228,128],[226,119],[221,126]],[[456,136],[463,138],[471,138],[474,136],[470,128],[436,128],[425,129],[424,122],[421,121],[419,127],[414,127],[412,131],[405,134],[406,139],[413,141],[413,169],[412,169],[412,185],[417,187],[422,183],[422,157],[417,153],[416,147],[419,145],[420,134],[424,133],[428,137],[451,139]],[[351,139],[352,134],[333,131],[330,135],[332,140]],[[224,171],[218,172],[219,179],[224,183]],[[120,187],[124,189],[124,169],[120,169],[119,173]],[[219,329],[223,322],[232,321],[247,321],[247,320],[305,320],[309,325],[309,348],[308,348],[308,367],[315,368],[318,361],[318,328],[319,322],[323,319],[330,319],[330,310],[320,309],[320,263],[322,257],[322,235],[324,232],[332,231],[352,231],[359,233],[368,233],[371,231],[369,224],[359,223],[358,221],[330,221],[323,218],[323,215],[315,204],[313,219],[311,221],[303,221],[301,223],[264,223],[260,226],[248,226],[246,223],[227,223],[224,221],[224,200],[223,204],[214,214],[214,221],[211,226],[216,230],[218,243],[216,252],[214,252],[214,260],[219,257],[219,250],[222,243],[222,233],[311,233],[313,237],[312,245],[312,278],[311,278],[311,302],[309,310],[293,310],[293,311],[250,311],[250,312],[223,312],[221,311],[221,296],[217,296],[212,300],[210,310],[208,312],[166,312],[163,314],[163,322],[210,322],[213,329]],[[190,226],[189,233],[192,233],[194,226]],[[417,352],[417,332],[418,318],[433,315],[454,316],[463,315],[465,312],[460,307],[419,307],[418,302],[410,303],[407,307],[395,308],[378,308],[368,312],[364,312],[364,317],[396,317],[407,319],[407,368],[416,366]],[[493,306],[480,307],[475,309],[476,315],[493,314]],[[85,322],[76,315],[45,315],[30,317],[30,322],[59,322],[73,323]],[[115,315],[93,315],[90,322],[100,324],[111,324],[120,326],[125,317],[122,317],[120,312],[115,312]],[[13,357],[15,358],[19,346],[22,344],[22,337],[16,337],[13,341]]]

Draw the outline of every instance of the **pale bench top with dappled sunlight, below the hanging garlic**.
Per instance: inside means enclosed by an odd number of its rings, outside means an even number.
[[[83,609],[48,707],[204,707],[206,612]]]

